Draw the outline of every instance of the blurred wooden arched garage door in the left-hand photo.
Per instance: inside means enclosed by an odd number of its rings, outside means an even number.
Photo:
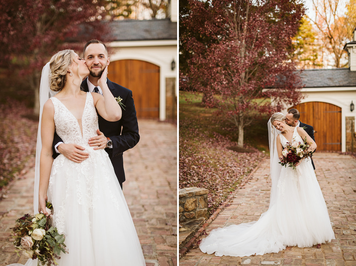
[[[137,118],[159,118],[159,66],[140,60],[112,61],[109,80],[131,89]]]

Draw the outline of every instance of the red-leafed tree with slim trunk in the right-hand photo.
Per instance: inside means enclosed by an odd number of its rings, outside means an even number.
[[[180,18],[184,74],[208,106],[218,106],[221,117],[235,124],[242,147],[251,114],[279,111],[301,98],[291,39],[304,8],[298,0],[208,3],[189,0],[190,10]]]

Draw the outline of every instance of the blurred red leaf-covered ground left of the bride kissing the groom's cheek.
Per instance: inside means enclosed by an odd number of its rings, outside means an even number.
[[[37,120],[33,109],[24,102],[6,99],[0,104],[0,190],[27,164],[33,164],[36,154]],[[27,118],[30,117],[30,118]]]

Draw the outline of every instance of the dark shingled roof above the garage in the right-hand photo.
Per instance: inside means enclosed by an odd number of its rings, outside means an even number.
[[[306,69],[300,73],[303,87],[356,87],[356,71],[350,68]]]

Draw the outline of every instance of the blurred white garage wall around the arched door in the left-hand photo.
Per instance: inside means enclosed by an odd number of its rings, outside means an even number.
[[[125,41],[111,42],[108,46],[116,48],[110,62],[133,59],[150,62],[159,66],[159,120],[166,119],[166,78],[176,78],[176,96],[178,95],[178,42],[177,40]],[[171,62],[176,68],[171,69]]]

